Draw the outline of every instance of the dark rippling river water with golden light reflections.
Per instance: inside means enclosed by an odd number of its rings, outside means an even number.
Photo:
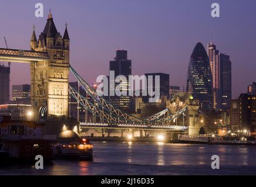
[[[256,146],[94,142],[94,161],[0,168],[0,175],[256,175]],[[220,169],[211,169],[211,156]]]

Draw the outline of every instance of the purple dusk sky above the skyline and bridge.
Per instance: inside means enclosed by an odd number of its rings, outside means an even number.
[[[42,2],[45,17],[36,18]],[[211,4],[220,4],[220,18],[211,18]],[[0,47],[3,37],[14,49],[29,49],[32,26],[45,26],[49,9],[63,35],[69,25],[70,64],[89,83],[109,74],[116,49],[128,50],[132,74],[166,72],[170,84],[186,84],[188,61],[198,41],[213,41],[233,61],[233,98],[256,81],[255,0],[91,0],[0,2]],[[71,78],[73,81],[74,78]],[[28,64],[12,63],[11,84],[30,83]]]

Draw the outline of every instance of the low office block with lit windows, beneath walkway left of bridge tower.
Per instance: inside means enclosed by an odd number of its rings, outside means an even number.
[[[30,85],[12,85],[12,101],[20,104],[31,104]]]

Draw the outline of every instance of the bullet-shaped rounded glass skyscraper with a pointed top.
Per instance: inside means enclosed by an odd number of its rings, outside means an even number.
[[[201,109],[213,109],[213,78],[209,59],[203,44],[197,43],[190,57],[187,74],[187,92],[201,103]]]

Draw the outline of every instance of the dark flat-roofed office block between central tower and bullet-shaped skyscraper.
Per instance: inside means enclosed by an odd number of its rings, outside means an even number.
[[[160,91],[160,95],[159,98],[156,99],[161,99],[163,96],[166,96],[167,99],[169,99],[169,88],[170,88],[170,75],[169,74],[164,74],[164,73],[149,73],[149,74],[145,74],[146,78],[147,78],[147,93],[148,95],[143,97],[143,102],[149,102],[149,89],[152,90],[153,92],[156,91],[156,76],[159,76],[160,78],[160,87],[159,87],[159,91]],[[153,78],[153,85],[149,85],[149,76],[151,76]]]

